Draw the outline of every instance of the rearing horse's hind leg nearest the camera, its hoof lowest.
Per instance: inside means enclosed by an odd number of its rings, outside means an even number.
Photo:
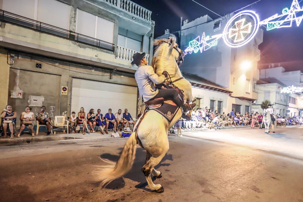
[[[161,193],[164,191],[163,187],[161,184],[154,184],[153,181],[151,180],[151,171],[153,171],[154,167],[160,163],[162,158],[165,156],[167,151],[163,152],[160,154],[158,157],[150,157],[150,159],[147,161],[147,163],[142,167],[142,172],[145,175],[147,184],[149,188],[153,191],[156,191],[158,193]],[[160,173],[161,174],[161,173]]]

